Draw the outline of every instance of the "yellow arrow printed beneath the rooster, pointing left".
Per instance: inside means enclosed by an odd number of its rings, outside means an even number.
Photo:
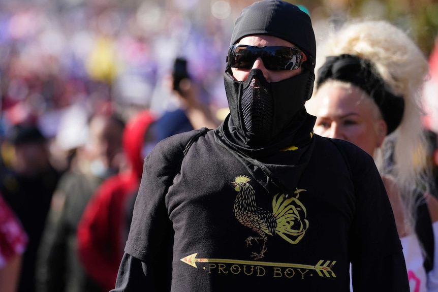
[[[196,263],[222,263],[222,264],[242,264],[242,265],[257,265],[257,266],[270,266],[270,267],[285,267],[285,268],[299,268],[307,270],[315,270],[320,277],[333,277],[336,275],[332,271],[332,268],[336,261],[321,261],[315,266],[311,265],[301,265],[301,264],[287,264],[287,263],[270,263],[270,262],[254,262],[254,261],[242,261],[240,259],[224,259],[224,258],[196,258],[198,253],[193,253],[181,258],[181,261],[191,265],[192,267],[198,268]]]

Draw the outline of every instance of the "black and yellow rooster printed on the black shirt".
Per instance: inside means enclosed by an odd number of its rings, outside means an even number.
[[[291,244],[298,243],[304,236],[309,222],[306,218],[306,209],[298,200],[299,194],[305,189],[296,189],[295,197],[286,198],[285,194],[276,194],[272,200],[272,212],[257,207],[256,192],[249,184],[249,177],[238,176],[233,181],[237,196],[234,201],[234,215],[244,226],[258,233],[258,237],[248,237],[246,246],[252,241],[263,240],[260,253],[253,252],[254,260],[262,258],[267,250],[268,235],[279,235]]]

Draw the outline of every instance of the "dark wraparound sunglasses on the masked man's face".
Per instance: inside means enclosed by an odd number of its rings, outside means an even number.
[[[257,58],[262,58],[268,70],[295,70],[308,63],[307,56],[297,48],[232,45],[228,49],[227,61],[232,68],[251,69]]]

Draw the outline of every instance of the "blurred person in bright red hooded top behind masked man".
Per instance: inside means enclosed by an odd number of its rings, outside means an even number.
[[[93,194],[79,222],[79,258],[89,275],[104,290],[114,288],[127,239],[128,205],[136,193],[143,172],[143,159],[153,148],[154,117],[142,111],[131,118],[123,132],[123,150],[128,165],[106,179]]]

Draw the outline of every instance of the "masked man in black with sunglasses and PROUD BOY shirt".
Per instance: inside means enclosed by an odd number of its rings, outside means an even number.
[[[174,135],[144,161],[119,291],[409,291],[372,158],[314,135],[316,42],[278,0],[236,20],[224,83],[230,114]]]

